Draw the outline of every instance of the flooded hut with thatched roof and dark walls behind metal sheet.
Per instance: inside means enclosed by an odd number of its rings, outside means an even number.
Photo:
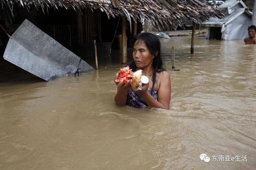
[[[119,44],[123,44],[121,48],[127,48],[126,41],[142,31],[143,19],[155,28],[160,28],[182,25],[186,20],[201,23],[205,18],[223,16],[219,10],[202,0],[0,1],[0,24],[8,34],[12,35],[19,25],[28,19],[78,56],[88,54],[89,57],[85,61],[89,63],[95,61],[94,40],[97,42],[97,49],[102,44],[104,47],[109,44],[107,47],[111,48],[112,43],[117,40]],[[115,35],[119,35],[119,39],[113,39]],[[2,29],[0,40],[2,58],[9,40]],[[92,49],[92,53],[84,49]],[[97,54],[100,55],[100,52]],[[125,62],[126,59],[122,60],[122,63]]]

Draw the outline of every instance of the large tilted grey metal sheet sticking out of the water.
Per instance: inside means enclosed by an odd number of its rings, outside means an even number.
[[[94,70],[27,19],[11,37],[4,59],[43,80]]]

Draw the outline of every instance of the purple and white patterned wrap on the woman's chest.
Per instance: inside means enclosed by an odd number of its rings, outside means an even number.
[[[151,89],[147,89],[147,91],[151,95]],[[154,97],[155,100],[157,100],[156,90],[153,91],[152,96]],[[128,93],[127,93],[126,104],[129,106],[139,107],[139,108],[145,108],[148,106],[145,100],[140,96],[139,93],[133,92],[130,90],[128,90]]]

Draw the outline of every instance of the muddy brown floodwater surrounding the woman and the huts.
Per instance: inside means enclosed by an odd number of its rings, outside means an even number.
[[[256,46],[197,37],[190,55],[190,41],[161,40],[170,110],[116,106],[115,57],[79,78],[2,81],[0,169],[255,169]]]

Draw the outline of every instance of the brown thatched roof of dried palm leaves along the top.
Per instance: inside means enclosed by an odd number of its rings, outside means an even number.
[[[147,19],[154,26],[182,25],[184,20],[197,23],[210,17],[222,17],[216,8],[201,0],[0,0],[12,11],[13,5],[30,8],[35,6],[47,12],[48,8],[79,8],[100,9],[109,17],[125,15],[131,25],[134,21]]]

